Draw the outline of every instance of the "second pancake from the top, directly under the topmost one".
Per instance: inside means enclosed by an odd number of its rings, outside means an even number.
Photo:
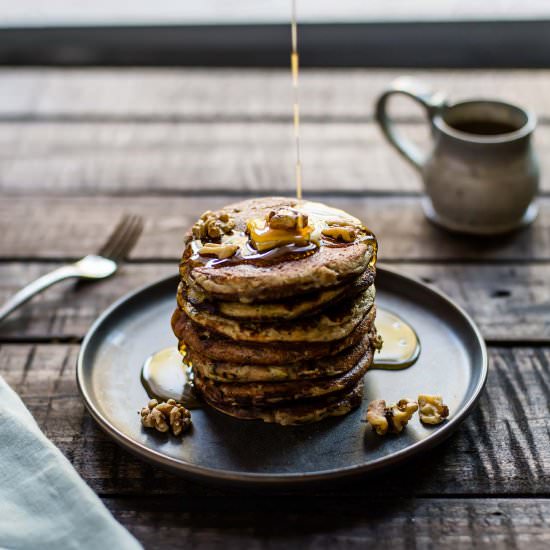
[[[278,302],[226,302],[210,301],[208,296],[195,287],[185,287],[180,283],[178,287],[178,304],[183,308],[185,289],[187,300],[197,308],[206,308],[211,313],[235,319],[253,319],[255,321],[292,320],[297,317],[311,315],[327,304],[339,300],[352,298],[366,290],[374,282],[375,270],[369,268],[353,281],[346,282],[334,288],[319,290],[302,296],[295,296],[279,300]]]

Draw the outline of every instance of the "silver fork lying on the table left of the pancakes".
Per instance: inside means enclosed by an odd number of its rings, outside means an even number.
[[[110,277],[132,250],[142,231],[141,216],[128,214],[123,216],[97,254],[89,254],[74,264],[54,269],[14,294],[0,307],[0,322],[33,296],[59,281],[72,278],[96,280]]]

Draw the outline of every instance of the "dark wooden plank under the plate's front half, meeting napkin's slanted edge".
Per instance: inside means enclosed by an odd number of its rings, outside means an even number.
[[[104,435],[85,412],[76,390],[77,351],[74,345],[3,345],[0,374],[95,491],[147,498],[230,494],[142,464]],[[480,405],[446,443],[391,475],[365,477],[340,487],[327,485],[312,494],[548,496],[550,348],[490,351],[492,368]]]

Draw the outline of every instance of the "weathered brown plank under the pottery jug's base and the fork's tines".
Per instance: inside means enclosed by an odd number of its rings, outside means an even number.
[[[312,198],[315,198],[313,196]],[[145,219],[131,257],[177,261],[184,231],[200,212],[238,197],[12,197],[0,202],[0,258],[78,258],[102,245],[123,212]],[[431,225],[418,197],[323,199],[363,219],[383,261],[540,261],[550,259],[550,200],[528,230],[498,239],[467,238]]]

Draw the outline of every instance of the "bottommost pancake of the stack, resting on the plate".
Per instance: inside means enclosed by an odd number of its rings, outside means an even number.
[[[240,407],[224,405],[208,399],[205,401],[218,411],[241,420],[263,420],[283,426],[292,426],[318,422],[329,416],[343,416],[359,407],[362,398],[363,382],[359,382],[352,390],[343,395],[282,407]]]

